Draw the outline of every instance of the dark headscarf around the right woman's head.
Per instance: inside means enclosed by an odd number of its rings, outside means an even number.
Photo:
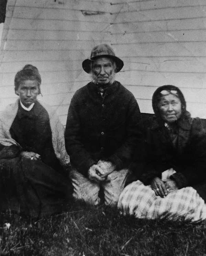
[[[186,101],[185,101],[185,98],[184,98],[181,90],[174,85],[163,85],[163,86],[158,87],[152,96],[152,108],[153,108],[153,111],[156,114],[156,116],[160,117],[158,103],[160,102],[160,99],[162,96],[167,95],[167,94],[161,93],[164,91],[168,91],[168,93],[171,93],[180,99],[181,107],[182,107],[182,114],[185,114],[186,113]]]

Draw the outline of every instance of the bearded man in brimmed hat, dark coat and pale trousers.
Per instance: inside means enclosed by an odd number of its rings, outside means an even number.
[[[92,81],[74,94],[67,116],[65,143],[70,155],[73,196],[88,204],[117,205],[128,176],[128,165],[141,136],[137,101],[115,73],[124,63],[113,49],[98,45],[82,63]]]

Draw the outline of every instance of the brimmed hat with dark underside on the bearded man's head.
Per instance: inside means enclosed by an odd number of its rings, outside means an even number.
[[[99,57],[107,57],[107,58],[113,59],[116,63],[116,73],[118,73],[124,66],[124,62],[120,58],[115,56],[115,53],[112,47],[110,47],[107,44],[101,44],[101,45],[95,46],[92,49],[90,59],[85,59],[82,62],[83,70],[88,74],[90,74],[91,72],[90,63]]]

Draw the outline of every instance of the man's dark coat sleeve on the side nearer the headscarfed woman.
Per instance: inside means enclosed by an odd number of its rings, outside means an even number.
[[[126,137],[114,154],[107,160],[116,165],[116,170],[127,167],[131,162],[135,148],[140,148],[142,136],[142,119],[136,99],[132,96],[126,116]]]

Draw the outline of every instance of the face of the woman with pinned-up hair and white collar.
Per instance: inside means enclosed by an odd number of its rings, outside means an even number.
[[[38,82],[36,80],[22,81],[15,93],[19,96],[22,104],[28,108],[36,101],[39,94]]]

